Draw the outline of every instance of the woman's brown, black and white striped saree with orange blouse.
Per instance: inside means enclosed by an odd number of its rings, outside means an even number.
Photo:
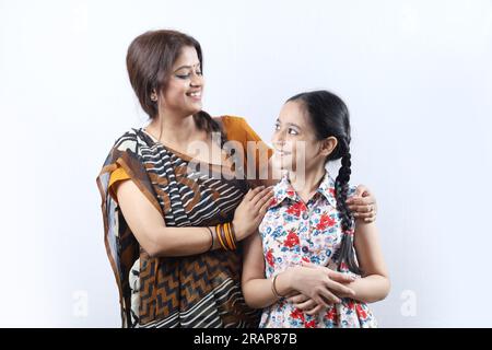
[[[247,141],[261,142],[243,118],[227,116],[218,121],[227,140],[243,147]],[[260,312],[246,305],[241,291],[241,243],[233,252],[150,257],[118,207],[115,177],[131,179],[162,213],[166,226],[231,222],[248,183],[223,176],[231,171],[224,166],[191,163],[190,156],[156,142],[142,128],[131,129],[115,142],[97,177],[105,245],[118,284],[124,327],[258,326]]]

